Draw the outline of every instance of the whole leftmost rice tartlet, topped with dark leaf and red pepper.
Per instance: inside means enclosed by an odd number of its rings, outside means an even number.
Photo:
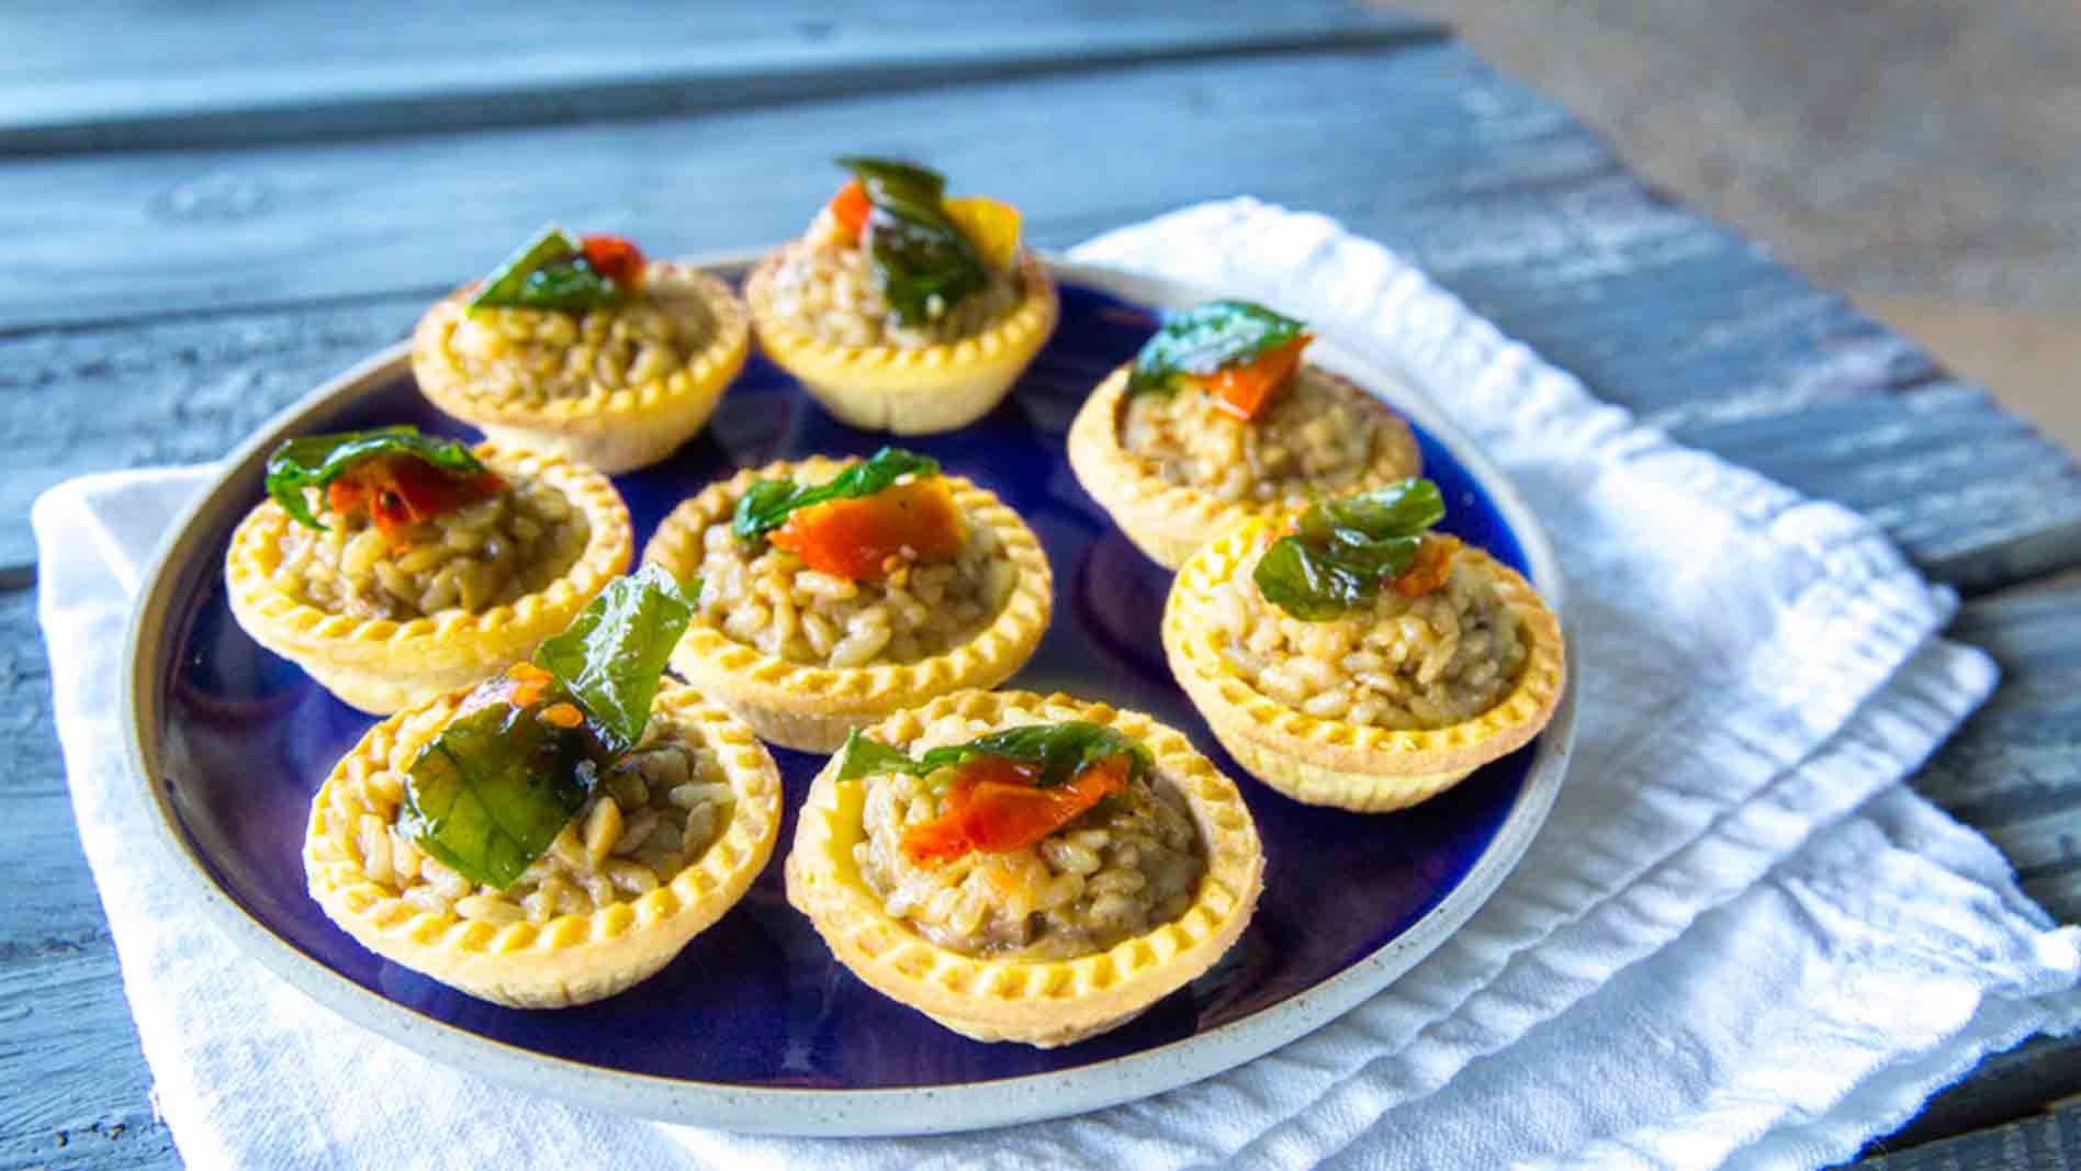
[[[308,435],[266,483],[225,553],[231,614],[375,715],[526,657],[635,555],[606,476],[497,443]]]

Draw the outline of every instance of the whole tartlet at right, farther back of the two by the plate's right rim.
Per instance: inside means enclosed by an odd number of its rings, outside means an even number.
[[[1070,468],[1113,524],[1176,570],[1203,541],[1326,493],[1421,470],[1386,404],[1301,358],[1299,320],[1249,302],[1170,318],[1070,424]]]

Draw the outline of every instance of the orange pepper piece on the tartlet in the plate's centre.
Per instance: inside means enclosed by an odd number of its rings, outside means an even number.
[[[878,580],[891,557],[945,562],[961,551],[961,510],[939,476],[789,514],[768,537],[820,574]]]

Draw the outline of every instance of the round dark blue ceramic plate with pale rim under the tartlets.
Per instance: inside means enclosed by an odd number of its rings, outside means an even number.
[[[743,258],[716,262],[741,272]],[[404,347],[275,418],[177,526],[131,630],[137,774],[152,778],[164,840],[198,907],[256,959],[345,1017],[429,1057],[566,1100],[658,1119],[791,1134],[922,1134],[1059,1117],[1167,1090],[1284,1044],[1384,988],[1461,926],[1519,859],[1561,782],[1573,703],[1523,751],[1394,815],[1315,809],[1249,780],[1172,682],[1157,643],[1170,574],[1084,495],[1063,433],[1084,393],[1130,358],[1161,306],[1213,295],[1057,264],[1061,327],[1018,391],[982,422],[907,441],[988,485],[1040,535],[1055,622],[1007,686],[1136,707],[1184,728],[1236,776],[1263,836],[1265,894],[1249,932],[1201,980],[1126,1027],[1055,1050],[980,1044],[847,973],[780,892],[793,807],[822,757],[776,751],[789,817],[751,892],[662,973],[562,1011],[474,1000],[387,963],[304,892],[310,795],[370,726],[231,620],[223,557],[262,497],[283,437],[383,422],[468,435],[414,391]],[[1523,570],[1548,601],[1561,582],[1511,487],[1405,381],[1334,345],[1342,368],[1411,416],[1444,489],[1444,528]],[[868,453],[880,435],[824,414],[753,358],[708,428],[670,462],[620,476],[637,539],[735,468],[814,451]]]

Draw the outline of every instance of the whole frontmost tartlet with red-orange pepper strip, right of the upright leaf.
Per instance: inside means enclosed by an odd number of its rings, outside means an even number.
[[[1107,1032],[1242,934],[1263,849],[1176,730],[966,691],[855,734],[810,784],[787,896],[864,982],[976,1040]]]

